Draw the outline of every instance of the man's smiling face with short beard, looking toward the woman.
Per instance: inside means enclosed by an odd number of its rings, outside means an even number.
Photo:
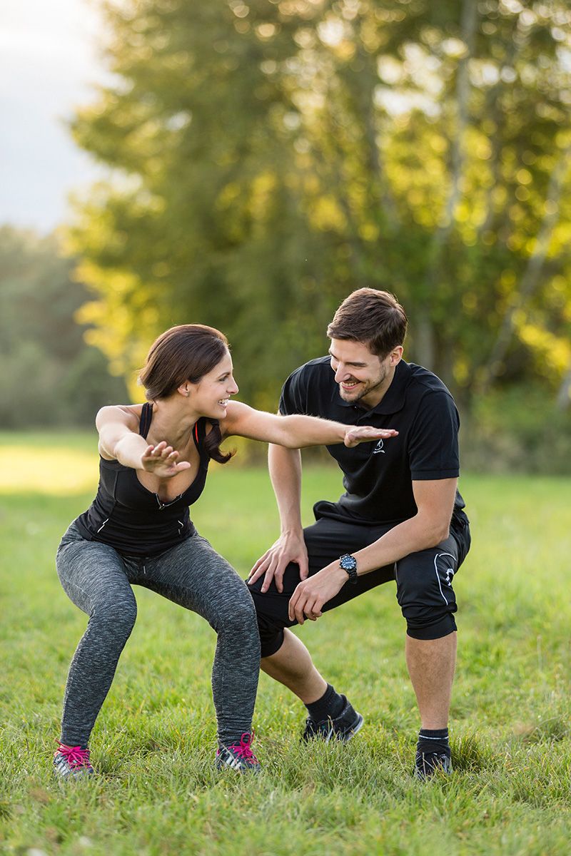
[[[329,353],[342,400],[371,409],[389,389],[402,348],[395,348],[381,360],[362,342],[331,339]]]

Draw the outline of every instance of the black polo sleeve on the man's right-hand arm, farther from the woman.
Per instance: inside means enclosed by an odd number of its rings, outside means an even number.
[[[455,479],[460,475],[459,427],[458,411],[449,393],[435,391],[423,396],[408,443],[413,481]]]

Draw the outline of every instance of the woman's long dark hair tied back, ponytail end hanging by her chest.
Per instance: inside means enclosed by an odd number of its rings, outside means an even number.
[[[168,398],[185,381],[198,383],[223,360],[228,350],[226,336],[205,324],[178,324],[165,330],[152,343],[139,374],[139,383],[145,387],[147,400]],[[235,453],[224,455],[220,451],[220,426],[216,419],[211,423],[212,430],[205,437],[205,451],[214,461],[225,464]]]

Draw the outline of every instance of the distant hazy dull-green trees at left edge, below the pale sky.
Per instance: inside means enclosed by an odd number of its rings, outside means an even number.
[[[0,228],[0,426],[92,425],[98,408],[125,401],[74,313],[86,289],[72,281],[55,236]]]

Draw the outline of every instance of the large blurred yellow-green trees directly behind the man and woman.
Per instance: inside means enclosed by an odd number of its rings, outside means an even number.
[[[571,362],[566,0],[125,0],[113,83],[74,134],[113,169],[77,204],[81,318],[116,371],[164,327],[235,346],[246,397],[323,353],[353,288],[470,405]],[[241,365],[247,366],[241,375]]]

